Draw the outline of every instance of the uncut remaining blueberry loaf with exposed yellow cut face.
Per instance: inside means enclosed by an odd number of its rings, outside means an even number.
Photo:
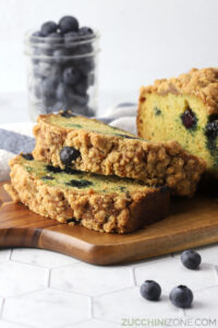
[[[142,87],[137,132],[156,142],[178,141],[218,177],[218,69],[192,69]]]

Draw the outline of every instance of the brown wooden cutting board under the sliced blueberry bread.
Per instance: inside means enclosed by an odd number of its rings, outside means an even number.
[[[126,235],[60,224],[15,204],[0,184],[0,247],[36,247],[94,265],[150,258],[218,242],[218,198],[177,199],[167,219]]]

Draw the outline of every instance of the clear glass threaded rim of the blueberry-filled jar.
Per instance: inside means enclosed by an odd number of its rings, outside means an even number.
[[[57,47],[61,47],[64,44],[63,43],[53,43],[53,40],[59,40],[59,37],[44,37],[44,36],[34,36],[33,33],[35,32],[35,30],[28,30],[25,33],[25,37],[24,37],[24,45],[26,46],[24,54],[26,56],[31,56],[34,59],[53,59],[56,60],[52,56],[47,56],[47,55],[33,55],[31,54],[31,51],[28,51],[28,47],[31,48],[33,47],[37,47],[39,49],[49,49],[50,47],[57,46]],[[52,43],[46,43],[45,38],[48,39],[52,39]],[[94,36],[92,37],[84,37],[83,39],[80,40],[73,40],[68,43],[68,47],[74,47],[74,46],[84,46],[86,44],[90,44],[90,43],[95,43],[100,38],[100,34],[98,31],[94,31]],[[34,40],[35,42],[34,42]],[[72,38],[73,39],[73,38]],[[61,56],[61,59],[63,60],[68,60],[68,59],[80,59],[80,58],[84,58],[84,57],[93,57],[95,56],[97,52],[99,52],[100,49],[95,49],[95,51],[92,52],[87,52],[87,54],[83,54],[83,55],[70,55],[70,56]]]

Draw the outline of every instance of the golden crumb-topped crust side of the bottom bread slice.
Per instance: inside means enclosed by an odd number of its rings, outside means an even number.
[[[128,233],[164,219],[169,208],[168,188],[150,188],[126,196],[49,186],[27,172],[20,156],[10,161],[12,199],[60,223],[81,224],[107,233]],[[74,219],[73,222],[71,219]]]

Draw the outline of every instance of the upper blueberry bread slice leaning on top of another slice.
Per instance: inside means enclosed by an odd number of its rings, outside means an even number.
[[[148,142],[68,112],[40,115],[34,134],[34,157],[38,161],[61,168],[135,178],[149,186],[168,185],[172,194],[180,196],[194,194],[205,169],[204,161],[174,141]]]

